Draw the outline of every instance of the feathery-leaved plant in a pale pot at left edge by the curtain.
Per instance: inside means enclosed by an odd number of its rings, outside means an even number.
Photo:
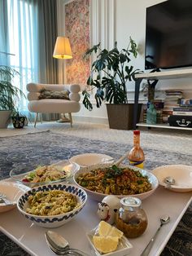
[[[11,67],[0,65],[0,128],[7,128],[11,113],[15,111],[15,102],[23,92],[12,84],[19,73]]]

